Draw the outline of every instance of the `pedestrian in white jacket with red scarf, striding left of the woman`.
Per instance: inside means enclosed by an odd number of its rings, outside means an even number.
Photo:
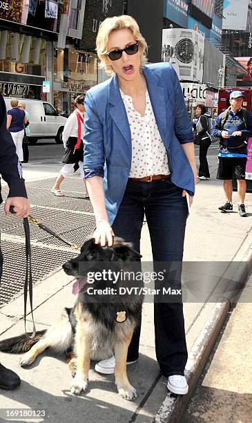
[[[70,114],[66,124],[64,126],[64,131],[62,133],[62,140],[65,147],[64,157],[62,162],[64,162],[64,167],[59,171],[59,176],[55,182],[55,185],[52,187],[51,191],[57,197],[63,197],[65,194],[61,191],[60,185],[61,182],[68,176],[70,173],[80,170],[81,178],[84,181],[84,189],[86,191],[86,182],[84,179],[84,170],[83,170],[83,135],[84,135],[84,96],[78,95],[75,98],[76,109]],[[88,196],[86,196],[88,198]]]

